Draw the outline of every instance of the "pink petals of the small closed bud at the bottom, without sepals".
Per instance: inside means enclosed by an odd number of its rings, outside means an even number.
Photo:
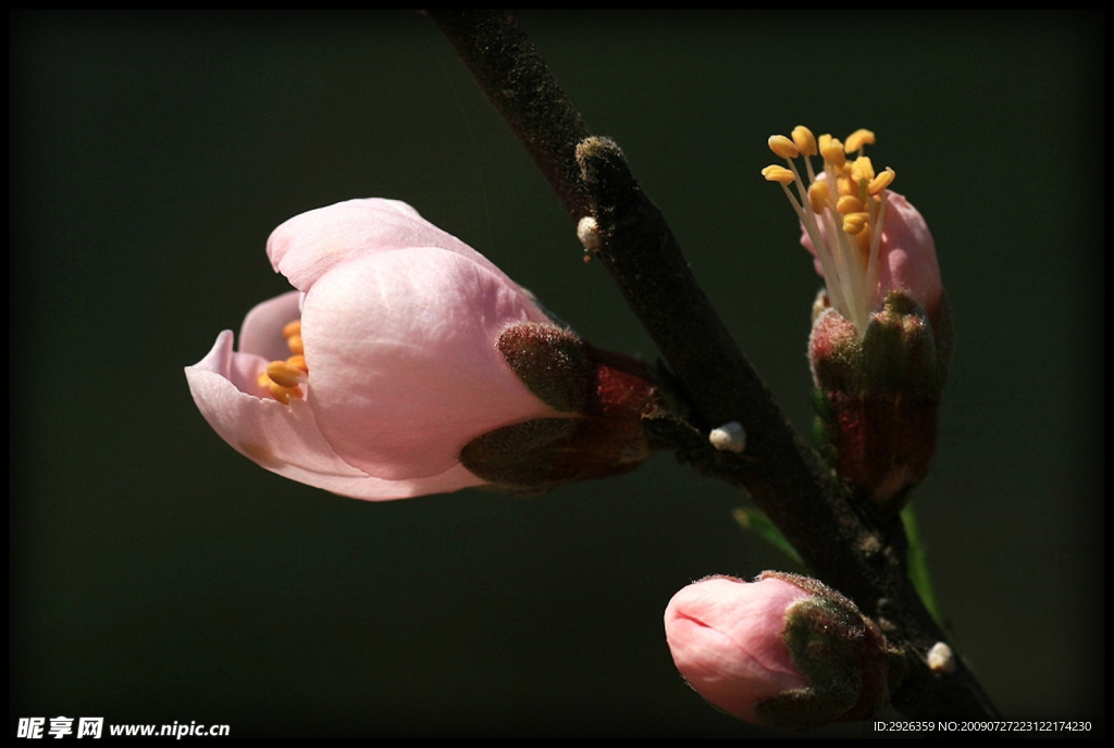
[[[710,577],[690,584],[665,609],[677,670],[712,705],[761,725],[760,701],[811,685],[783,641],[786,610],[809,597],[776,578]]]

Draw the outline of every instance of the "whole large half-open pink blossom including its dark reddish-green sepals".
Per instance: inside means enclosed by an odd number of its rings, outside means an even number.
[[[648,372],[556,323],[490,260],[395,200],[291,218],[296,288],[186,367],[202,414],[263,468],[368,500],[536,492],[648,454]]]

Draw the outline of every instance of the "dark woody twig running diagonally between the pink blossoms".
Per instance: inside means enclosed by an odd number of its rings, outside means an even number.
[[[957,656],[931,672],[924,654],[946,641],[909,581],[900,519],[854,502],[790,425],[696,283],[665,218],[618,146],[593,136],[518,22],[502,11],[426,11],[441,28],[574,222],[597,222],[596,256],[654,338],[692,405],[654,437],[705,474],[745,490],[810,571],[856,601],[900,658],[895,707],[917,718],[986,718],[996,709]],[[746,452],[710,445],[739,421]]]

